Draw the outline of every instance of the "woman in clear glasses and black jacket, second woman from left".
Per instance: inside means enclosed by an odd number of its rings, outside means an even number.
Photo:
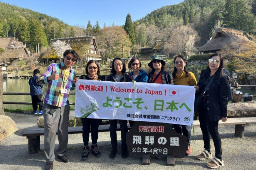
[[[107,77],[106,81],[113,82],[129,82],[132,81],[129,75],[125,74],[126,68],[124,61],[117,57],[113,60],[111,74]],[[127,129],[127,120],[118,120],[121,128],[121,148],[122,148],[122,158],[127,158],[127,145],[126,145],[126,133]],[[112,150],[110,152],[109,157],[111,159],[115,158],[117,152],[117,138],[116,138],[116,128],[117,128],[117,120],[109,120],[109,132]]]

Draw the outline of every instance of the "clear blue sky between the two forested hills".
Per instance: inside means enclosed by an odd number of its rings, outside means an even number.
[[[184,0],[0,0],[0,2],[27,8],[58,18],[71,26],[87,26],[88,21],[102,28],[122,26],[128,13],[132,21],[145,17],[150,12],[166,5],[174,5]]]

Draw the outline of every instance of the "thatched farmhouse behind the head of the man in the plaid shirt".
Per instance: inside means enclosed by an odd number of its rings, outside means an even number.
[[[100,53],[99,53],[98,45],[96,43],[96,37],[83,36],[83,37],[58,38],[58,39],[51,40],[47,50],[48,52],[41,54],[38,58],[38,61],[46,64],[47,56],[48,56],[49,63],[59,62],[59,57],[56,54],[57,51],[54,51],[53,49],[53,43],[58,40],[64,41],[66,44],[70,45],[72,50],[75,50],[78,52],[79,60],[77,62],[89,61],[91,59],[101,62],[101,60],[103,59],[103,57],[100,56]]]

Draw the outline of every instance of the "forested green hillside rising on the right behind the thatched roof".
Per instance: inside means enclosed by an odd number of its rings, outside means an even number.
[[[187,25],[197,31],[201,38],[197,45],[200,46],[210,39],[214,26],[255,34],[255,12],[255,0],[185,0],[152,11],[135,21],[134,26],[145,24],[146,29],[151,28],[159,33],[156,39],[168,40],[175,27]],[[149,45],[150,39],[148,37]]]

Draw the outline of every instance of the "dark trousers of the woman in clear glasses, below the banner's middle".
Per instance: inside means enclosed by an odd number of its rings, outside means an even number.
[[[127,151],[126,145],[126,133],[127,133],[127,120],[118,120],[121,128],[121,148],[122,151]],[[116,138],[116,128],[117,128],[117,120],[109,120],[109,132],[110,132],[110,139],[111,145],[113,150],[117,150],[117,138]]]

